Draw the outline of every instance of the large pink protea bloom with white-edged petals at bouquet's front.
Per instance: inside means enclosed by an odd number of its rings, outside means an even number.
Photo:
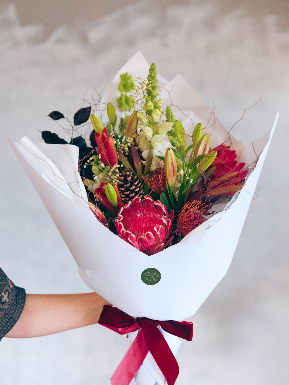
[[[115,219],[118,236],[147,255],[158,253],[170,243],[172,213],[160,201],[135,197],[119,211]]]

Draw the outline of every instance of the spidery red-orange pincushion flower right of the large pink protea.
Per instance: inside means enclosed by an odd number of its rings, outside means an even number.
[[[206,212],[205,204],[200,201],[192,201],[185,204],[177,219],[176,234],[186,236],[200,224],[205,222],[203,214]]]

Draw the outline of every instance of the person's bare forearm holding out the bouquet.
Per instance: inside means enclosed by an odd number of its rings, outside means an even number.
[[[97,293],[27,294],[20,318],[7,337],[37,337],[97,323],[104,305]]]

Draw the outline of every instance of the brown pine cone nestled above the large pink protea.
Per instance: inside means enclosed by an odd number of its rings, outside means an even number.
[[[142,183],[137,176],[132,175],[131,171],[123,171],[117,179],[117,188],[123,202],[129,202],[135,196],[142,198],[144,195]]]

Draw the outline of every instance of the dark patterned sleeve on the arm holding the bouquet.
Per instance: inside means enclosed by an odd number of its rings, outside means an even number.
[[[0,268],[0,340],[18,321],[25,296],[25,290],[15,286]]]

